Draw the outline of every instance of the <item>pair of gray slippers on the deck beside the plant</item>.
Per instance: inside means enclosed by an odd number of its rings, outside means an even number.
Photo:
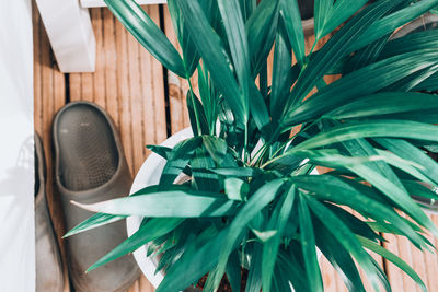
[[[119,135],[107,113],[88,102],[70,103],[53,124],[54,184],[60,197],[66,229],[92,215],[70,203],[92,203],[129,195],[132,178]],[[64,271],[50,221],[45,191],[45,159],[35,135],[35,234],[36,291],[64,291]],[[88,231],[66,240],[68,268],[77,292],[127,290],[140,275],[131,255],[96,270],[85,270],[126,240],[125,221]]]

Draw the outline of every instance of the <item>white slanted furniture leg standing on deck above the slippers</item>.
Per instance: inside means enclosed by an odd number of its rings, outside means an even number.
[[[36,0],[61,72],[95,69],[95,38],[88,9],[79,0]]]

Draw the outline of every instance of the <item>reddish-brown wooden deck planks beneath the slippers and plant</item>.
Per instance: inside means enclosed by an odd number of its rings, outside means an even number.
[[[161,25],[171,40],[175,35],[165,7],[145,8]],[[185,110],[187,85],[177,77],[166,73],[114,19],[107,9],[91,9],[97,43],[96,71],[94,73],[62,74],[59,72],[50,46],[34,8],[34,77],[35,77],[35,129],[42,136],[48,167],[48,202],[54,225],[60,236],[65,233],[60,201],[53,184],[53,155],[50,126],[55,113],[71,101],[92,101],[104,107],[117,125],[131,171],[136,174],[149,151],[145,145],[160,143],[168,136],[189,126]],[[312,37],[308,43],[311,44]],[[176,45],[176,42],[174,42]],[[165,75],[168,74],[168,75]],[[438,224],[438,217],[433,218]],[[411,264],[425,281],[429,291],[438,291],[438,258],[434,254],[422,254],[410,243],[396,236],[387,236],[385,245]],[[437,241],[434,241],[437,244]],[[376,257],[389,275],[394,292],[420,291],[392,264]],[[347,291],[341,277],[323,259],[323,279],[328,292]],[[65,269],[67,270],[67,269]],[[66,273],[66,283],[68,275]],[[65,292],[70,291],[66,288]],[[142,277],[129,292],[149,292],[153,288]],[[367,288],[368,291],[368,288]],[[369,291],[372,291],[369,289]]]

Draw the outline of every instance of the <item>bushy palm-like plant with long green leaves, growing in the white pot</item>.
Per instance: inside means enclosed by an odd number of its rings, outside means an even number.
[[[318,248],[350,291],[365,291],[358,267],[376,290],[390,291],[371,252],[426,290],[380,243],[391,233],[427,249],[424,234],[438,235],[412,199],[437,198],[424,186],[438,184],[438,164],[424,148],[438,143],[430,114],[438,98],[415,92],[438,68],[436,38],[420,32],[415,43],[389,40],[438,0],[316,1],[315,43],[343,25],[309,54],[296,0],[170,0],[182,55],[134,1],[106,2],[189,83],[193,137],[150,147],[166,160],[142,184],[152,185],[127,198],[77,203],[97,213],[68,235],[142,218],[91,269],[148,244],[164,271],[157,291],[181,291],[201,278],[204,290],[215,291],[224,275],[233,291],[242,276],[245,291],[323,291]],[[334,73],[342,78],[326,84]],[[331,171],[313,175],[315,166]]]

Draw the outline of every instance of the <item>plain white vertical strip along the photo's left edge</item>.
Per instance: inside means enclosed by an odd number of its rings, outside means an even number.
[[[0,1],[0,291],[35,291],[31,0]]]

